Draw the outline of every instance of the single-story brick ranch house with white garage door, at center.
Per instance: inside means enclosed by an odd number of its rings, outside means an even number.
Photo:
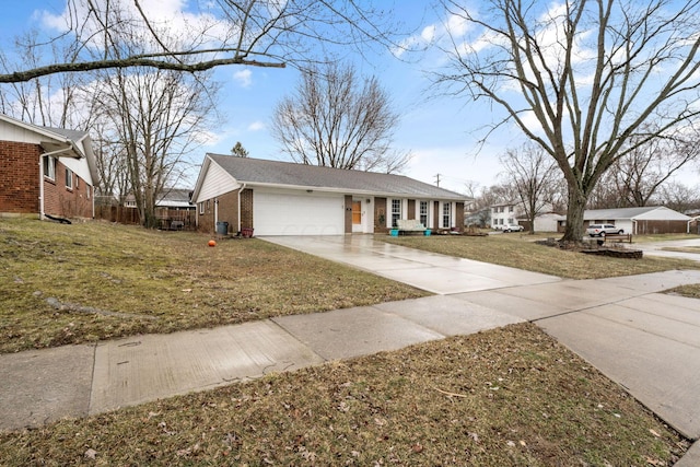
[[[464,225],[466,197],[390,174],[207,154],[192,201],[197,225],[256,235],[386,233],[399,219]]]

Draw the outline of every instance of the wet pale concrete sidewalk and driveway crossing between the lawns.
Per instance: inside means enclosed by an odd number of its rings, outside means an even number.
[[[313,254],[325,250],[343,258],[348,249],[343,262],[376,268],[386,277],[404,275],[416,287],[445,292],[238,326],[3,354],[0,429],[101,413],[270,372],[532,320],[686,436],[700,436],[700,300],[657,293],[700,283],[700,271],[574,281],[368,240],[316,243]],[[459,280],[446,284],[431,277],[455,273]],[[682,463],[700,465],[700,445]]]

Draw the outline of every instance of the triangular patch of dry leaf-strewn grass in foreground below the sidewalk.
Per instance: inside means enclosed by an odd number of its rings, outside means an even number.
[[[0,434],[11,466],[670,466],[687,447],[527,324]]]

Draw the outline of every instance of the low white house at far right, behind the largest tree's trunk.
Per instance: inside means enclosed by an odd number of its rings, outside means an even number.
[[[583,213],[584,226],[590,224],[615,224],[626,233],[634,235],[657,233],[687,233],[690,217],[664,206],[642,208],[591,209]],[[559,222],[563,232],[565,220]]]

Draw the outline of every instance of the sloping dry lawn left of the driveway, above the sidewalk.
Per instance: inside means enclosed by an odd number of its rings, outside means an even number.
[[[103,222],[0,220],[0,352],[427,293],[271,245]]]

